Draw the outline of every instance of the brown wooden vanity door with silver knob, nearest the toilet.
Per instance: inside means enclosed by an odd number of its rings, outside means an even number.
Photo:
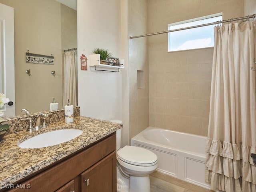
[[[81,192],[116,192],[116,152],[81,174]]]

